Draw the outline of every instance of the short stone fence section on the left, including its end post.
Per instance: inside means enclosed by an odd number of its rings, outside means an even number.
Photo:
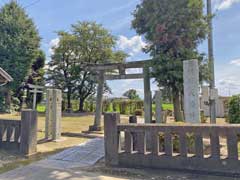
[[[0,149],[23,155],[37,152],[37,112],[22,111],[21,120],[0,119]]]

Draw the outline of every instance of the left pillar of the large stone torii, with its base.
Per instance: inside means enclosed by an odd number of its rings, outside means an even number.
[[[104,81],[105,81],[104,73],[105,73],[104,71],[100,71],[100,73],[99,73],[94,125],[89,127],[89,131],[102,131],[103,130],[103,127],[101,125],[101,117],[102,117],[102,104],[103,104],[103,88],[104,88]]]

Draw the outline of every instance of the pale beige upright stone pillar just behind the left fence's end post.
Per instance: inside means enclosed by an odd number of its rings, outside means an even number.
[[[62,91],[47,89],[45,138],[59,140],[61,138]]]

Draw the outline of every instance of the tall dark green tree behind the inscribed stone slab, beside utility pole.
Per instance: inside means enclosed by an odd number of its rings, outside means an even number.
[[[142,0],[134,11],[132,26],[148,41],[145,51],[154,59],[153,76],[159,86],[172,91],[177,120],[181,119],[183,60],[199,59],[203,64],[197,51],[207,34],[203,8],[199,0]]]

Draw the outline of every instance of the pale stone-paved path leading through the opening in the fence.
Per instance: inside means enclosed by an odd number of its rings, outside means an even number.
[[[79,170],[104,156],[103,138],[95,138],[31,165],[0,175],[0,180],[119,180]]]

